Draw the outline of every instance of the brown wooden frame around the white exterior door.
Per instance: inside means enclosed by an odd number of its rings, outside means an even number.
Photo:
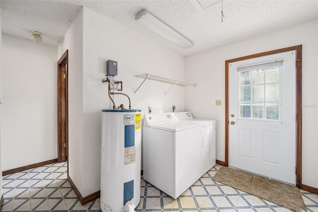
[[[296,186],[302,188],[302,45],[225,61],[225,166],[229,166],[229,63],[296,50]]]

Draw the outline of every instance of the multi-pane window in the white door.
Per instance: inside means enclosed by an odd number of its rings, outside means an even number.
[[[283,61],[238,67],[239,118],[280,121]]]

